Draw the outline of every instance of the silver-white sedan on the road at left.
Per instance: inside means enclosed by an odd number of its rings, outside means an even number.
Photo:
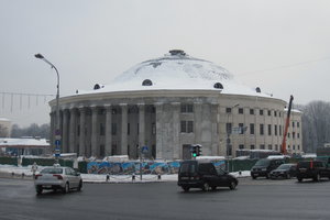
[[[61,189],[64,194],[76,188],[82,188],[82,179],[79,173],[70,167],[53,166],[46,167],[35,175],[34,186],[36,194],[42,194],[44,189]]]

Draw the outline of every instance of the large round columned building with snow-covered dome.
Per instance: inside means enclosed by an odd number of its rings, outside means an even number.
[[[54,134],[56,101],[50,105]],[[138,158],[143,150],[148,158],[186,160],[191,144],[202,145],[202,155],[279,151],[285,106],[211,62],[173,50],[109,85],[62,97],[62,152]]]

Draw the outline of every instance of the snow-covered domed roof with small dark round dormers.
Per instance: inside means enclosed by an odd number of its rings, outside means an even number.
[[[218,90],[221,94],[267,96],[235,82],[233,75],[223,67],[194,58],[180,50],[142,62],[109,85],[97,85],[95,90],[82,94],[134,90]]]

